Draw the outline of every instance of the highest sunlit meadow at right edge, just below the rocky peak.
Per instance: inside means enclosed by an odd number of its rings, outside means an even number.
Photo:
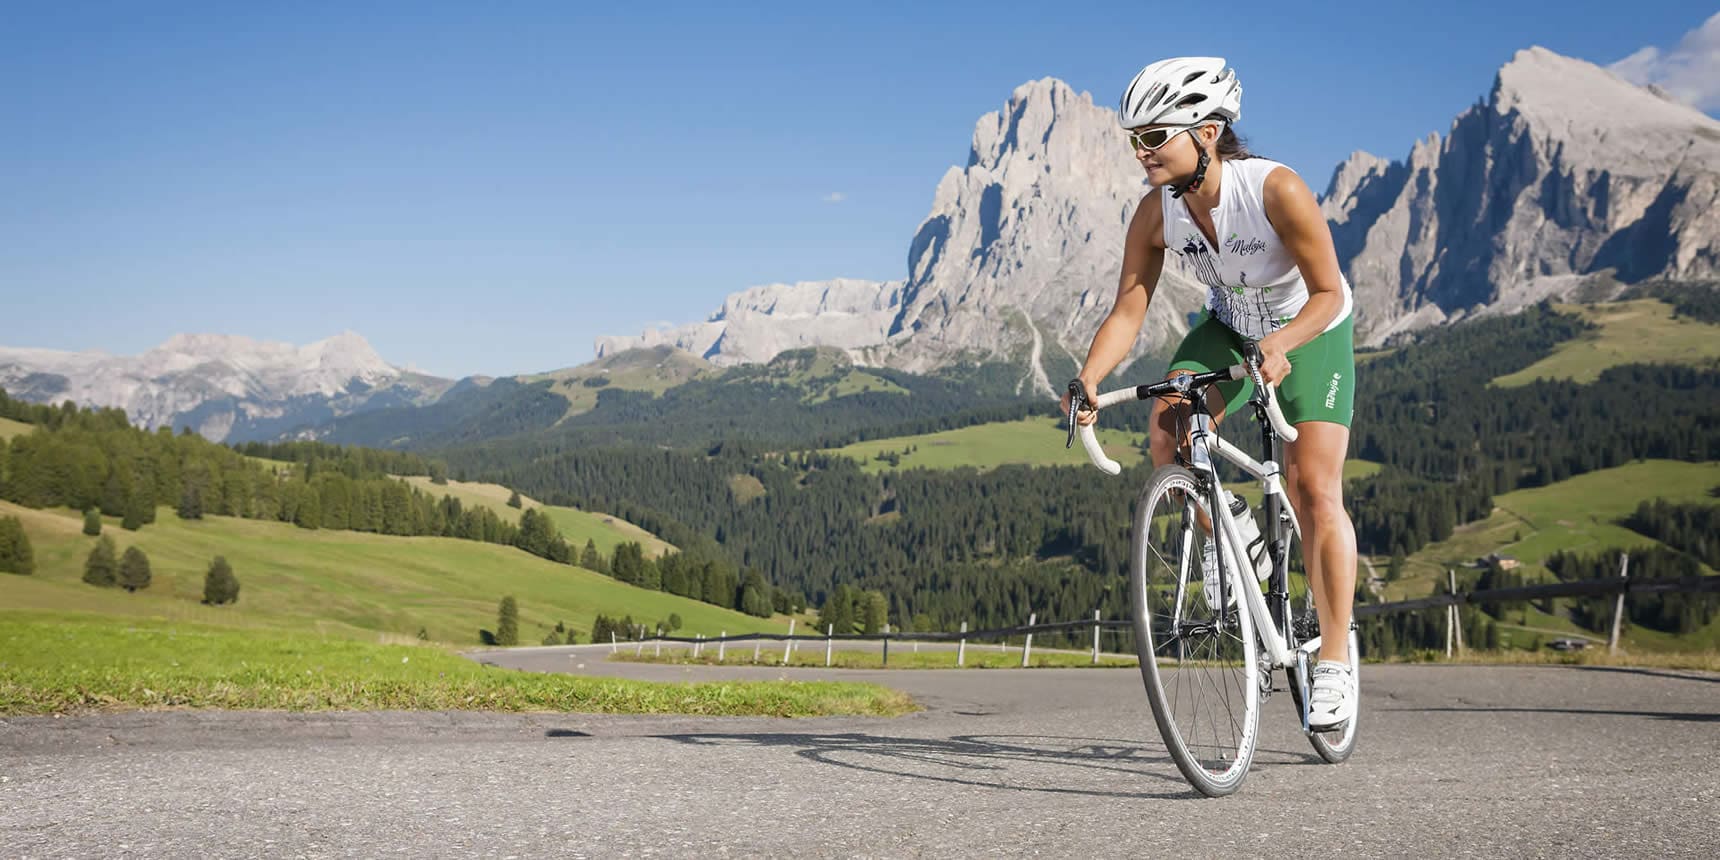
[[[1558,344],[1553,354],[1493,380],[1502,389],[1527,385],[1538,378],[1594,382],[1601,372],[1619,365],[1670,361],[1677,365],[1713,365],[1720,361],[1720,325],[1691,318],[1672,318],[1672,304],[1660,299],[1619,301],[1608,304],[1555,304],[1598,329]]]

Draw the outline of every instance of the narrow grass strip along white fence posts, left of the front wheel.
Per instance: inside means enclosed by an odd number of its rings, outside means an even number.
[[[753,647],[750,642],[736,642],[728,647],[722,660],[717,660],[717,647],[705,645],[698,657],[693,657],[688,645],[674,643],[664,645],[659,655],[652,643],[645,643],[643,654],[635,654],[633,650],[621,648],[616,652],[612,660],[623,662],[662,662],[674,666],[752,666],[753,664]],[[760,648],[759,662],[764,666],[783,666],[783,643],[767,642]],[[1115,654],[1101,654],[1099,662],[1092,662],[1092,654],[1066,652],[1066,650],[1034,650],[1027,659],[1029,669],[1113,669],[1118,666],[1139,666],[1140,660],[1135,657],[1121,657]],[[789,655],[788,666],[802,667],[824,667],[824,645],[817,642],[802,642],[800,647]],[[927,648],[915,652],[912,642],[894,642],[889,647],[889,666],[884,666],[884,655],[881,652],[867,650],[834,650],[831,652],[832,669],[956,669],[956,652],[955,648]],[[1011,645],[1008,650],[998,650],[996,643],[968,643],[967,654],[961,660],[963,669],[1020,669],[1022,667],[1022,647]]]

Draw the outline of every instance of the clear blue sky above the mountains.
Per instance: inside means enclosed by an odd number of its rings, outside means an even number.
[[[7,3],[0,344],[356,330],[440,375],[568,366],[753,284],[903,277],[937,179],[1029,79],[1111,105],[1146,62],[1223,55],[1238,129],[1323,186],[1443,132],[1517,48],[1663,57],[1713,14],[724,7]],[[1342,126],[1307,119],[1333,103]]]

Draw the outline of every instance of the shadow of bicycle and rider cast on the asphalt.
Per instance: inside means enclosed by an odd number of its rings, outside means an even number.
[[[655,734],[695,746],[779,746],[810,762],[884,776],[929,779],[974,788],[1085,795],[1104,798],[1173,800],[1199,798],[1189,788],[1164,746],[1111,738],[1051,738],[1027,734],[958,734],[953,738],[886,738],[863,733],[824,734]],[[1259,750],[1271,767],[1316,760],[1312,755]],[[1164,791],[1116,791],[1118,776],[1163,784]],[[1054,784],[1061,783],[1061,784]]]

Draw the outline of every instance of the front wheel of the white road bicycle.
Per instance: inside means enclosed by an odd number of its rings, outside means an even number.
[[[1202,569],[1214,540],[1194,473],[1163,466],[1135,504],[1130,611],[1147,702],[1183,777],[1207,796],[1230,795],[1254,759],[1259,726],[1259,648],[1240,588],[1254,585],[1219,554],[1214,580]],[[1252,571],[1250,571],[1252,573]]]

